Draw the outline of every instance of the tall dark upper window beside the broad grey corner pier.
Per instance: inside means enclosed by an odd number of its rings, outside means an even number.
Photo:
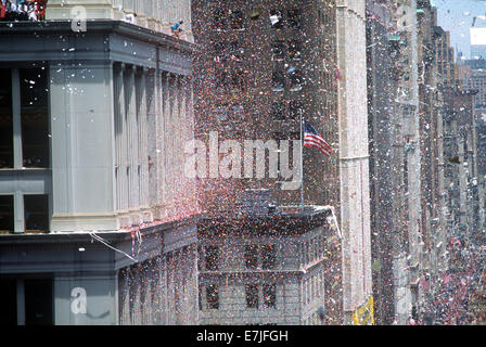
[[[21,69],[22,151],[24,167],[49,167],[47,70]]]

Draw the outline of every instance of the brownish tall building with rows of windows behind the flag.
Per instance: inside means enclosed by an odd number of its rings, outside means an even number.
[[[304,202],[338,209],[334,1],[196,0],[192,17],[202,52],[194,61],[197,138],[208,146],[212,132],[220,142],[234,140],[242,146],[245,140],[261,140],[268,150],[265,160],[270,160],[276,150],[286,150],[268,141],[300,139],[304,117],[335,152],[328,157],[317,149],[303,151]],[[268,189],[278,205],[300,204],[298,170],[289,178],[282,163],[276,175],[265,165],[261,178],[243,165],[229,178],[216,167],[201,180],[202,208],[231,210],[245,189]],[[291,179],[296,189],[282,189],[280,182]]]

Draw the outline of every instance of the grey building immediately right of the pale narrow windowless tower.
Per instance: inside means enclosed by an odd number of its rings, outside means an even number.
[[[398,308],[396,258],[407,237],[404,190],[404,141],[398,113],[398,83],[404,75],[400,48],[391,2],[367,1],[368,125],[370,143],[371,248],[375,322],[392,324]]]

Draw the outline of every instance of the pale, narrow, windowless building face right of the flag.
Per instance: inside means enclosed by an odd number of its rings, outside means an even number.
[[[343,306],[345,323],[372,299],[366,2],[336,1]]]

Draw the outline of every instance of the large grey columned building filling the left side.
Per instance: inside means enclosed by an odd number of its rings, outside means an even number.
[[[2,323],[197,322],[177,151],[194,47],[159,30],[190,18],[177,3],[169,18],[156,1],[50,1],[46,22],[0,23]],[[133,11],[141,25],[119,21]]]

